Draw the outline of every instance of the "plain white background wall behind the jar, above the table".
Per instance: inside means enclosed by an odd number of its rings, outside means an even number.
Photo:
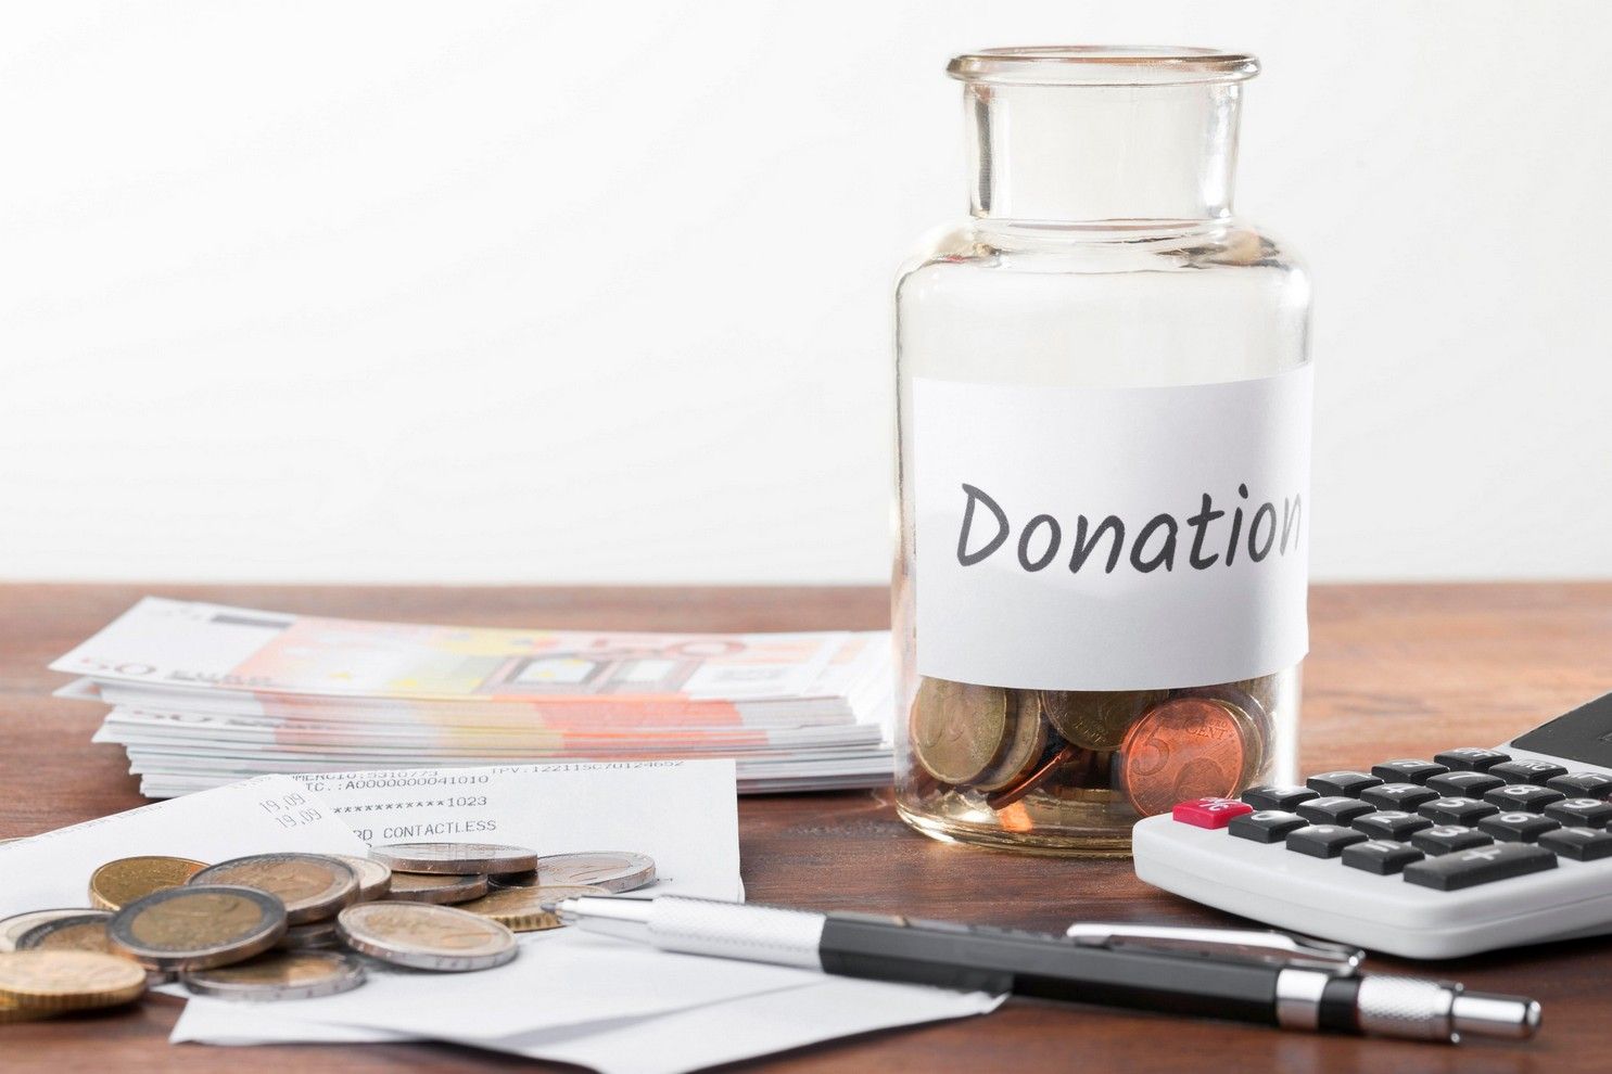
[[[1256,52],[1317,578],[1612,575],[1612,6],[13,3],[0,576],[879,581],[953,52]]]

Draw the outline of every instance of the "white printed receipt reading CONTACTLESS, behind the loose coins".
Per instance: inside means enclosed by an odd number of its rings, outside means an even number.
[[[293,776],[371,844],[637,850],[645,894],[743,898],[732,760],[511,765]]]

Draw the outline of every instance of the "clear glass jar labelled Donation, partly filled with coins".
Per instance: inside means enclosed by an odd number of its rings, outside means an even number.
[[[896,802],[1124,855],[1293,778],[1309,282],[1232,217],[1253,56],[958,56],[972,219],[896,285]]]

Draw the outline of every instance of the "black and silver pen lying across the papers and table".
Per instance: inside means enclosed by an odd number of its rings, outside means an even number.
[[[661,895],[585,895],[559,918],[654,947],[846,977],[1412,1040],[1522,1040],[1539,1005],[1365,976],[1362,952],[1283,932],[1075,924],[1066,936]]]

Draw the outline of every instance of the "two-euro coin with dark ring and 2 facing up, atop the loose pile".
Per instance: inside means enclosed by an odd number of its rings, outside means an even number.
[[[274,947],[285,934],[285,905],[256,887],[187,884],[129,903],[110,932],[145,966],[227,966]]]

